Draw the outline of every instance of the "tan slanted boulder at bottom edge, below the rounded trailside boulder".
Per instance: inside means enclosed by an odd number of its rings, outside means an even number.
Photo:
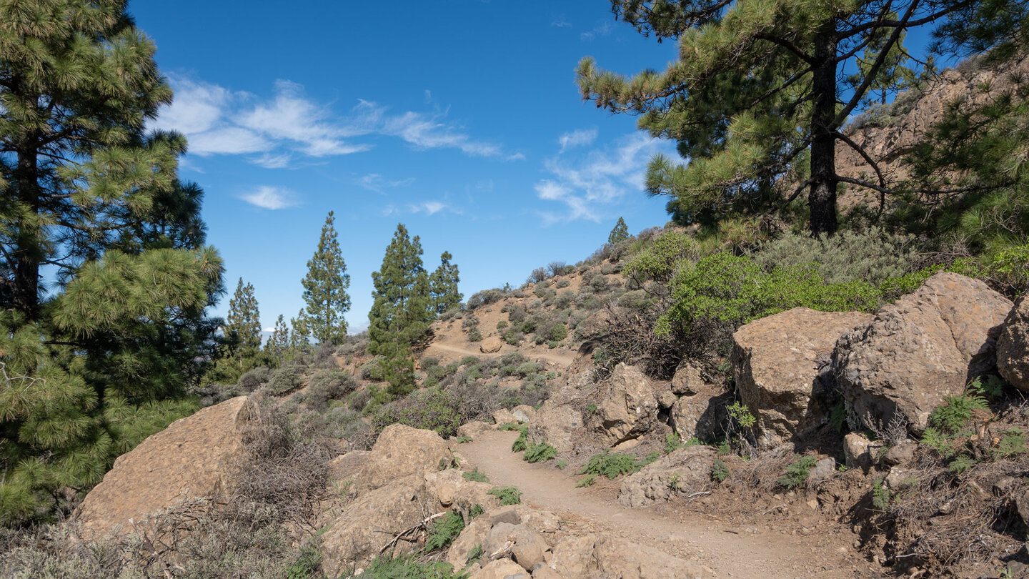
[[[367,566],[394,537],[424,519],[427,505],[438,507],[419,475],[392,480],[387,486],[359,496],[347,504],[322,535],[322,569],[329,577],[338,577]],[[393,552],[414,552],[417,546],[416,542],[399,540]]]

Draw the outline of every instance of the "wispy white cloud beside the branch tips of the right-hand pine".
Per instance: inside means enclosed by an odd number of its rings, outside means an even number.
[[[590,219],[599,222],[605,209],[626,195],[640,195],[646,164],[659,151],[669,152],[667,141],[632,133],[613,146],[566,159],[555,156],[543,163],[551,176],[536,182],[536,196],[565,205],[564,212],[543,211],[546,223]]]

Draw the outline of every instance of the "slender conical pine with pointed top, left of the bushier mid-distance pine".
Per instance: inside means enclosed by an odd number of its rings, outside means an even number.
[[[343,261],[334,224],[335,217],[329,211],[318,239],[318,249],[308,261],[308,274],[301,281],[307,303],[301,314],[304,322],[320,344],[342,344],[347,339],[344,314],[350,310],[350,295],[347,294],[350,274]]]

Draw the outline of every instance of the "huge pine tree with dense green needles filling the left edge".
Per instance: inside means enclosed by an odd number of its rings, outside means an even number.
[[[0,2],[0,522],[197,408],[222,292],[172,91],[122,1]],[[46,295],[44,283],[56,280]],[[44,295],[46,295],[44,299]]]

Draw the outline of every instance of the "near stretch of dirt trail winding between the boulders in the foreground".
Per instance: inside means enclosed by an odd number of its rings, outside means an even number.
[[[828,534],[782,535],[759,531],[756,522],[754,526],[735,525],[694,512],[666,509],[671,512],[659,513],[654,508],[623,507],[616,500],[618,481],[576,488],[581,477],[559,471],[553,464],[531,465],[521,453],[511,452],[517,436],[514,432],[485,432],[455,450],[493,484],[517,486],[523,492],[523,503],[557,512],[571,525],[699,560],[712,570],[708,577],[881,576],[849,545],[827,540]]]

